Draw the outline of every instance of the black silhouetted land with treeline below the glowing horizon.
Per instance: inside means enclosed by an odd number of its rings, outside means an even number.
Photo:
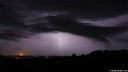
[[[16,58],[18,57],[18,58]],[[71,57],[6,57],[0,56],[0,72],[102,71],[128,72],[128,51],[95,51]]]

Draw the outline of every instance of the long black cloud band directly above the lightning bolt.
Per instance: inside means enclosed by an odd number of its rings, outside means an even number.
[[[78,23],[73,18],[68,18],[65,16],[49,16],[49,25],[44,26],[43,24],[36,24],[32,27],[33,31],[45,32],[45,31],[62,31],[69,32],[76,35],[81,35],[85,37],[91,37],[101,41],[106,41],[106,37],[116,35],[128,30],[127,26],[117,26],[117,27],[99,27],[92,26],[91,24]]]

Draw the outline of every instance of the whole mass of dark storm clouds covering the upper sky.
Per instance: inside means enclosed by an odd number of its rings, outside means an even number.
[[[92,26],[91,24],[79,23],[75,21],[73,17],[80,16],[91,19],[110,18],[127,13],[128,9],[126,7],[127,0],[87,0],[85,2],[80,0],[2,0],[0,2],[0,24],[7,27],[15,27],[15,29],[6,30],[5,28],[1,30],[0,39],[17,40],[19,38],[26,38],[28,35],[26,36],[25,32],[39,33],[61,31],[107,41],[107,36],[126,31],[127,27]],[[20,14],[18,14],[19,11]],[[46,18],[48,23],[40,22],[27,25],[23,20],[23,18],[27,16],[27,13],[24,13],[24,11],[64,11],[70,14],[70,16],[50,16]],[[42,18],[39,19],[41,20]]]

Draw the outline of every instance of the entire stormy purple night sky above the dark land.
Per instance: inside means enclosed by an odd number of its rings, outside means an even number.
[[[0,54],[128,49],[128,0],[0,0]]]

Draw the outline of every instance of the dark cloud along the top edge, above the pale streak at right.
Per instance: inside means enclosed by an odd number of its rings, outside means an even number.
[[[85,18],[115,17],[128,11],[127,0],[28,0],[27,4],[32,10],[63,10]]]

